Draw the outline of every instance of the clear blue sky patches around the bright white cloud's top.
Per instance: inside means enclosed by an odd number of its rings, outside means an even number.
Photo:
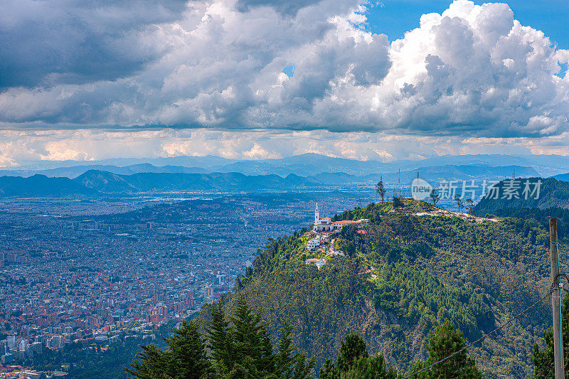
[[[370,30],[385,33],[390,41],[402,38],[406,31],[419,26],[422,14],[442,13],[449,0],[381,0],[368,15]],[[488,1],[475,0],[475,4]],[[514,11],[522,25],[532,26],[549,36],[559,48],[569,48],[569,1],[567,0],[511,0],[504,1]]]

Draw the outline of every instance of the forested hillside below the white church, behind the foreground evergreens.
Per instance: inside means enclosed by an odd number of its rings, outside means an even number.
[[[346,254],[326,257],[321,269],[304,264],[324,256],[304,249],[308,235],[270,240],[223,300],[225,311],[235,308],[237,292],[246,294],[272,335],[292,324],[294,342],[317,358],[317,368],[356,331],[370,353],[408,370],[425,358],[430,331],[445,319],[474,341],[548,290],[548,234],[536,220],[418,217],[431,207],[409,201],[392,208],[371,204],[336,215],[370,223],[366,233],[344,228],[334,245]],[[207,324],[210,315],[204,306],[198,320]],[[531,348],[550,324],[544,301],[471,353],[489,378],[529,377]]]

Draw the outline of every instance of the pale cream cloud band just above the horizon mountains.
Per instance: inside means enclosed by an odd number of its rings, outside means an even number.
[[[0,167],[33,161],[154,158],[159,156],[223,156],[267,159],[314,152],[349,159],[395,161],[444,154],[569,155],[569,133],[541,138],[431,137],[384,132],[214,131],[161,129],[102,131],[97,129],[15,132],[0,130]]]

